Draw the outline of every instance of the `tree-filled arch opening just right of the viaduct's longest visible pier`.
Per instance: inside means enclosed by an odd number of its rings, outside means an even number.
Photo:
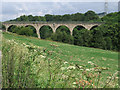
[[[40,33],[41,39],[49,39],[53,34],[53,30],[49,25],[43,25],[39,29],[39,33]]]

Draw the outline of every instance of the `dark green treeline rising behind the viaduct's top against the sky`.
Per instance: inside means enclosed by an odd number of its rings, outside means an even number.
[[[23,15],[10,21],[101,21],[99,16],[94,11],[88,11],[84,14],[65,14],[65,15],[50,15],[45,16],[32,16]]]

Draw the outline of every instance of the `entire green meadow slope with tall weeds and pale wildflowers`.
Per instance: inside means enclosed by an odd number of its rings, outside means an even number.
[[[8,87],[118,88],[118,53],[3,33]]]

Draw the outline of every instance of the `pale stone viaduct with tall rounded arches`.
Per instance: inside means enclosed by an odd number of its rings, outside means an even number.
[[[36,29],[36,33],[38,35],[38,38],[40,38],[40,32],[39,32],[39,30],[40,30],[40,28],[42,26],[50,26],[52,28],[52,30],[53,30],[54,33],[56,32],[57,28],[59,28],[60,26],[66,26],[67,28],[69,28],[70,34],[72,35],[73,29],[76,26],[82,26],[85,29],[90,30],[93,27],[101,25],[101,23],[72,23],[72,22],[71,23],[3,22],[2,24],[6,27],[6,32],[8,31],[8,28],[10,26],[12,26],[12,25],[15,25],[15,26],[24,26],[24,27],[26,27],[26,26],[33,26]]]

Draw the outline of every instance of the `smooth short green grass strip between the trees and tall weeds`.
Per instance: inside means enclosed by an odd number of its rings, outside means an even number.
[[[3,37],[7,39],[19,40],[22,43],[33,43],[35,45],[50,49],[50,44],[59,45],[56,52],[61,52],[59,57],[68,62],[86,65],[89,67],[88,61],[103,67],[110,68],[107,72],[103,73],[107,76],[108,72],[115,73],[118,69],[118,52],[94,49],[88,47],[74,46],[47,40],[41,40],[33,37],[19,36],[16,34],[4,33]]]

